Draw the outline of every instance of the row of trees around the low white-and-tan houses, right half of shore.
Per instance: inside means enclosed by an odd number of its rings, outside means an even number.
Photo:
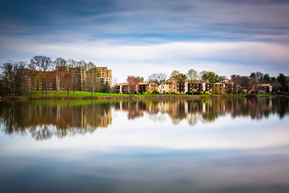
[[[195,69],[189,69],[187,73],[183,74],[180,73],[178,70],[172,71],[170,76],[168,76],[165,73],[158,72],[153,73],[148,76],[147,81],[149,82],[156,82],[160,86],[158,87],[159,93],[162,94],[162,88],[165,81],[170,80],[176,88],[180,86],[180,83],[184,80],[188,80],[189,83],[195,88],[195,84],[197,81],[207,81],[211,84],[214,84],[216,81],[224,81],[229,80],[230,82],[227,84],[231,84],[231,90],[232,93],[244,93],[245,90],[255,90],[256,93],[259,93],[259,91],[262,89],[262,84],[270,84],[272,86],[272,92],[277,93],[280,92],[288,92],[288,85],[289,85],[289,76],[285,76],[283,73],[279,73],[277,77],[270,76],[269,73],[263,74],[262,72],[252,72],[248,76],[240,76],[233,74],[230,76],[230,78],[226,76],[219,76],[213,71],[201,71],[198,72]],[[139,76],[127,76],[127,92],[129,94],[134,93],[135,91],[138,91],[139,87],[137,84],[139,82],[143,82],[144,78]],[[202,91],[201,87],[199,88],[199,91]],[[154,91],[155,92],[155,91]],[[176,93],[178,94],[178,93]],[[193,91],[192,93],[193,94]]]

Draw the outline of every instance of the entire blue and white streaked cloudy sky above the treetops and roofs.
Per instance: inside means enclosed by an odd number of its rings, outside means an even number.
[[[35,55],[128,75],[289,75],[289,1],[3,1],[0,64]]]

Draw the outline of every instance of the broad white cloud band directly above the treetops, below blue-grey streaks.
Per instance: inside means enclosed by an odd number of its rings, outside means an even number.
[[[54,60],[65,59],[92,61],[97,66],[108,66],[120,82],[127,75],[147,77],[162,71],[170,74],[174,69],[185,73],[189,68],[198,71],[215,71],[219,75],[248,75],[263,71],[277,76],[289,74],[289,46],[270,42],[165,42],[158,44],[129,44],[126,41],[101,40],[73,43],[39,43],[24,38],[5,38],[3,50],[8,59],[29,61],[34,55],[46,55]],[[14,54],[15,53],[15,54]],[[19,58],[18,55],[29,58]],[[278,66],[278,68],[276,68]]]

